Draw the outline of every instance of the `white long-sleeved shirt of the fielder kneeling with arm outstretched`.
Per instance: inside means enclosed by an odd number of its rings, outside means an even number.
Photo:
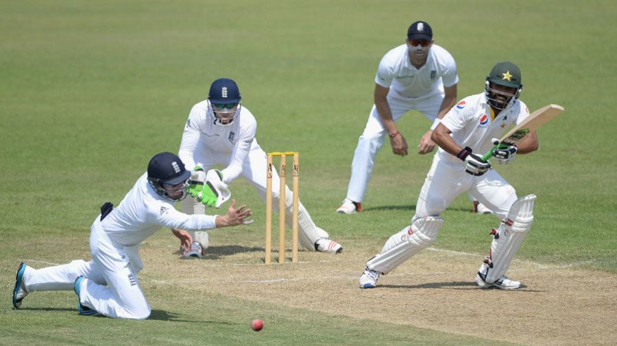
[[[101,222],[101,228],[117,244],[141,243],[162,227],[182,230],[216,228],[216,215],[186,215],[173,202],[156,194],[143,174],[124,199]]]

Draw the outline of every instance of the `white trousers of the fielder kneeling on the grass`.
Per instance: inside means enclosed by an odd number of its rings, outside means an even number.
[[[99,217],[90,228],[92,261],[73,261],[65,265],[28,270],[25,289],[32,291],[69,291],[79,276],[86,280],[80,289],[80,303],[102,315],[121,319],[147,319],[150,306],[137,281],[143,264],[138,245],[114,245],[101,228]]]

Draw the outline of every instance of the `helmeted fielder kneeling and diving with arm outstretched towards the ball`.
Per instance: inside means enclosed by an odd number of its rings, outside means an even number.
[[[33,291],[75,290],[81,315],[105,315],[121,319],[147,319],[150,306],[141,291],[137,273],[143,267],[139,244],[162,227],[203,230],[250,222],[245,206],[232,200],[226,215],[186,215],[174,204],[186,197],[191,172],[171,152],[155,155],[147,173],[135,183],[118,207],[107,202],[90,228],[89,262],[34,269],[21,263],[17,269],[13,306]],[[176,236],[186,245],[193,239],[184,230]]]

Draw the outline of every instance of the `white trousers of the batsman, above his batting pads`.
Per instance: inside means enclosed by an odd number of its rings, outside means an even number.
[[[456,157],[452,160],[460,161]],[[412,223],[420,217],[439,216],[455,198],[467,191],[500,219],[508,215],[516,201],[515,189],[496,170],[472,176],[465,172],[462,161],[458,163],[452,165],[435,154],[415,204]]]

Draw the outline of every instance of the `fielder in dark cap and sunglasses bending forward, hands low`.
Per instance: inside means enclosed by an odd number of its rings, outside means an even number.
[[[386,135],[394,154],[407,155],[407,142],[396,127],[396,121],[407,111],[417,109],[433,121],[431,129],[420,139],[419,153],[426,154],[435,148],[431,133],[437,118],[443,118],[455,104],[459,77],[452,55],[434,42],[431,26],[418,21],[407,30],[405,44],[381,59],[375,77],[375,104],[358,140],[347,196],[337,213],[362,211],[361,202],[375,157]]]

